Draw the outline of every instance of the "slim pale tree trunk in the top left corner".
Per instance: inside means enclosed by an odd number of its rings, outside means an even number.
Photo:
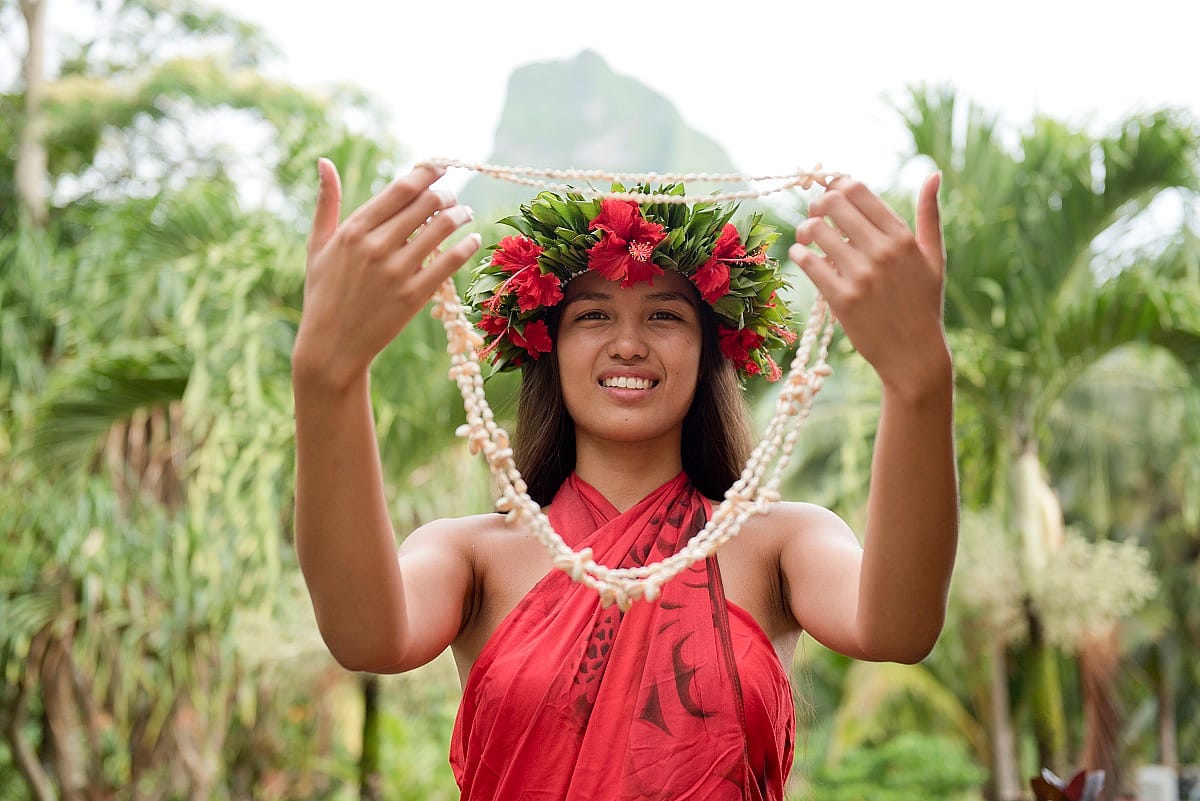
[[[17,150],[17,194],[29,219],[37,228],[48,221],[46,188],[49,183],[46,157],[46,120],[42,115],[46,92],[46,1],[20,0],[29,48],[25,50],[25,119]]]

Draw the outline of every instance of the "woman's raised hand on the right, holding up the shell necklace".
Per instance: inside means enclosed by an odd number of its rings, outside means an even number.
[[[836,179],[812,203],[788,251],[884,386],[908,396],[943,381],[949,366],[940,183],[935,174],[922,186],[913,233],[866,186]],[[820,253],[806,247],[814,243]]]

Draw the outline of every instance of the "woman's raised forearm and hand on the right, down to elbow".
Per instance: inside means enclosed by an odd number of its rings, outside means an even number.
[[[877,661],[917,662],[934,648],[958,541],[940,183],[937,174],[922,187],[914,233],[864,185],[838,179],[810,207],[788,253],[882,380],[864,548],[835,558],[860,559],[835,566],[858,573],[857,592],[820,607],[850,626],[860,655]],[[785,559],[785,571],[797,561],[806,560]],[[793,594],[804,591],[797,578],[788,577]],[[793,609],[803,606],[792,601]]]

